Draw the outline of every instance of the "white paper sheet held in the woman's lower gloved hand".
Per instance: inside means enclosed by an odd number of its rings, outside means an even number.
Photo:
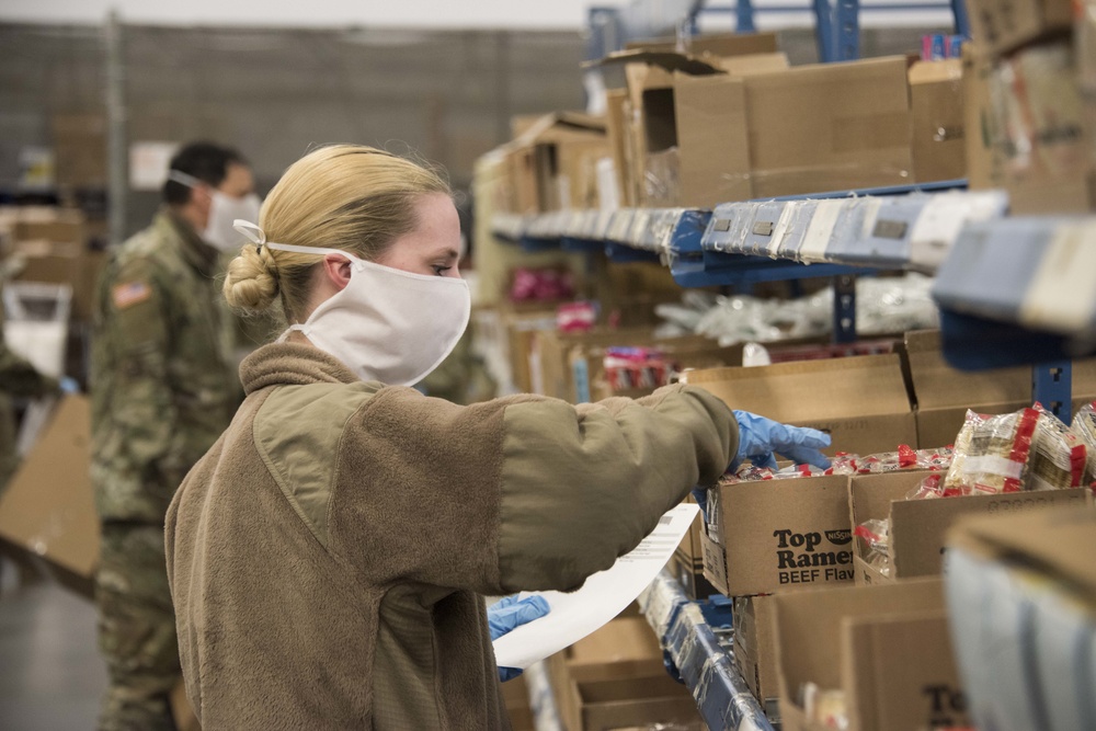
[[[495,640],[498,665],[525,670],[620,614],[666,566],[699,510],[692,503],[671,510],[635,550],[618,558],[613,568],[586,579],[576,592],[523,593],[523,597],[543,596],[551,612]]]

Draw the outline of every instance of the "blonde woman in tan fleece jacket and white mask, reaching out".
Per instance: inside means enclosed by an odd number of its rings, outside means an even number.
[[[203,727],[506,728],[482,595],[612,566],[723,472],[735,415],[686,386],[578,407],[409,388],[469,315],[448,187],[409,160],[316,150],[250,235],[225,295],[290,325],[243,362],[167,524]]]

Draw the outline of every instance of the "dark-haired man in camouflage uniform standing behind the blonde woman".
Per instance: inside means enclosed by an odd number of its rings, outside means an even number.
[[[173,729],[179,650],[163,548],[168,504],[228,426],[242,390],[231,323],[218,304],[219,252],[206,231],[217,194],[242,197],[251,172],[231,150],[195,144],[172,159],[164,207],[118,247],[99,283],[92,338],[92,483],[102,521],[95,594],[110,687],[99,728]],[[206,235],[208,236],[208,235]]]

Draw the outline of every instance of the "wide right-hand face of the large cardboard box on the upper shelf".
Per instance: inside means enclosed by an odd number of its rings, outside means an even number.
[[[753,197],[912,180],[905,58],[798,66],[745,89]]]

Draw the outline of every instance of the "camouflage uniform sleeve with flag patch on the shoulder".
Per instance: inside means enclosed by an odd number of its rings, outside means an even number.
[[[110,409],[133,467],[152,482],[174,488],[190,467],[182,456],[179,414],[170,387],[170,289],[149,262],[121,266],[105,294],[113,363]]]

